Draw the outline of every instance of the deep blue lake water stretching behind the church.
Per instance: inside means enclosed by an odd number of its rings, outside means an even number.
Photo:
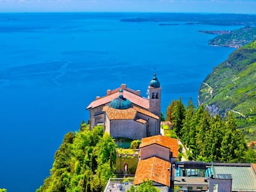
[[[198,30],[237,26],[120,22],[143,14],[0,14],[0,188],[35,191],[64,134],[95,96],[126,83],[147,96],[157,73],[162,111],[197,102],[200,83],[234,51]]]

